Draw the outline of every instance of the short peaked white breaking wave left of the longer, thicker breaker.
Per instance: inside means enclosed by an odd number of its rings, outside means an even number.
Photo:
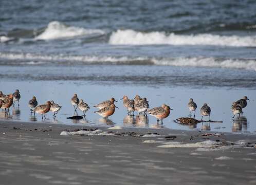
[[[65,39],[74,38],[76,36],[88,34],[104,34],[105,32],[100,29],[85,29],[75,26],[67,26],[58,21],[50,22],[43,33],[36,36],[36,40],[52,40],[52,39]]]

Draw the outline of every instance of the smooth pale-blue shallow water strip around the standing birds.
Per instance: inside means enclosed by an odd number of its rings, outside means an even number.
[[[37,81],[37,82],[1,82],[1,87],[5,87],[5,92],[9,93],[14,90],[13,87],[18,87],[21,91],[20,108],[17,109],[17,105],[11,108],[10,117],[5,117],[3,112],[1,113],[1,119],[5,120],[17,120],[17,121],[38,121],[41,122],[41,115],[30,114],[27,102],[32,96],[36,96],[39,104],[46,102],[47,100],[54,100],[59,103],[62,109],[58,113],[56,119],[52,118],[52,113],[48,113],[49,119],[43,120],[46,123],[61,123],[61,124],[84,124],[84,125],[100,125],[100,126],[113,126],[119,125],[124,127],[166,127],[177,130],[209,130],[218,132],[251,132],[255,133],[256,124],[254,120],[255,110],[255,90],[244,89],[195,89],[187,87],[148,87],[148,86],[129,86],[129,85],[96,85],[83,81]],[[4,93],[5,93],[4,92]],[[75,121],[66,119],[66,117],[74,115],[74,107],[70,104],[70,98],[74,93],[78,94],[79,98],[84,99],[88,103],[90,109],[86,113],[86,118]],[[122,101],[119,99],[123,95],[127,95],[129,98],[133,98],[136,94],[142,97],[147,97],[150,107],[160,106],[165,103],[171,106],[174,110],[170,116],[164,120],[163,125],[157,124],[156,119],[151,117],[130,117],[127,116],[126,110],[123,107]],[[248,102],[246,108],[244,108],[244,115],[242,118],[235,118],[232,121],[233,116],[230,110],[231,103],[247,95],[251,100]],[[116,106],[116,112],[108,119],[101,118],[98,114],[93,112],[97,109],[93,105],[114,97],[118,100]],[[197,103],[196,118],[200,119],[199,107],[203,103],[208,103],[212,109],[211,119],[215,121],[223,120],[223,123],[198,123],[197,125],[181,125],[171,120],[178,117],[188,116],[189,111],[187,103],[189,98],[193,97]],[[78,115],[82,115],[78,110]],[[208,120],[208,118],[205,118]]]

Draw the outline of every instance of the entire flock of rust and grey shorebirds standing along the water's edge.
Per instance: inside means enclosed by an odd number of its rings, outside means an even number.
[[[15,101],[17,101],[18,105],[20,105],[20,98],[21,94],[18,89],[16,89],[13,94],[9,95],[4,95],[3,92],[0,91],[0,108],[5,109],[6,113],[8,114],[9,108],[12,105],[14,106]],[[147,116],[148,113],[151,116],[156,117],[157,122],[159,122],[160,120],[161,123],[164,118],[167,118],[170,115],[170,110],[172,110],[170,106],[166,104],[149,109],[149,101],[147,100],[147,98],[141,98],[139,95],[136,95],[134,99],[129,99],[127,96],[123,96],[121,100],[123,100],[123,105],[127,108],[129,115],[134,115],[135,111],[138,112],[138,115],[143,113],[145,116]],[[244,96],[242,99],[233,102],[231,110],[234,116],[237,114],[240,117],[240,115],[243,114],[242,109],[246,107],[247,100],[249,99]],[[77,94],[75,94],[70,101],[71,104],[74,106],[75,111],[77,110],[77,108],[79,108],[85,116],[85,113],[90,108],[88,104],[85,103],[82,99],[79,99]],[[115,102],[117,101],[114,98],[111,98],[110,100],[106,100],[97,105],[94,105],[94,107],[99,108],[99,110],[94,113],[97,113],[104,118],[112,116],[115,113],[115,108],[118,108],[114,104]],[[45,114],[48,112],[53,112],[53,117],[55,117],[61,109],[61,106],[57,103],[54,103],[53,101],[47,101],[45,104],[38,105],[38,101],[36,101],[35,96],[33,96],[31,100],[29,100],[28,105],[30,107],[31,113],[41,114],[42,119],[43,116],[44,118],[46,118]],[[189,116],[191,116],[191,112],[194,112],[195,117],[197,105],[192,98],[189,99],[188,108]],[[202,115],[202,120],[203,116],[209,116],[209,121],[211,120],[211,108],[206,103],[200,108],[200,113]],[[234,116],[232,118],[234,118]]]

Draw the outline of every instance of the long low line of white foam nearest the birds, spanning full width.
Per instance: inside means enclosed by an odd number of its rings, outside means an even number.
[[[116,56],[96,56],[96,55],[64,55],[64,54],[34,54],[34,53],[6,53],[0,52],[0,58],[9,60],[28,60],[28,65],[43,64],[42,61],[49,62],[84,62],[86,63],[141,63],[170,66],[192,66],[192,67],[217,67],[248,69],[256,71],[256,60],[254,59],[220,59],[213,57],[176,57],[176,58],[150,58],[150,57],[116,57]],[[34,61],[34,62],[31,62]],[[39,62],[35,62],[39,61]],[[21,64],[25,64],[24,62]]]

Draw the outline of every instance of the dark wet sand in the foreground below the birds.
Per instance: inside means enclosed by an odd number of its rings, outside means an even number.
[[[105,134],[60,135],[81,128]],[[256,183],[252,134],[15,121],[0,133],[0,184]]]

